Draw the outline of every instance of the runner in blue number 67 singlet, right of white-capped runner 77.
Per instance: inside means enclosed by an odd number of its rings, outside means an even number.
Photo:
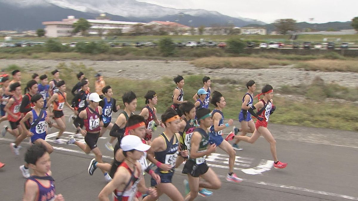
[[[103,101],[100,102],[100,106],[102,107],[102,118],[103,118],[103,127],[101,127],[100,137],[105,134],[107,129],[111,130],[113,127],[112,120],[112,112],[117,112],[121,107],[116,106],[116,99],[113,97],[113,90],[111,86],[103,87],[102,94],[105,94],[105,98],[102,98]],[[100,97],[101,98],[101,97]],[[113,141],[115,141],[116,137],[111,137],[110,141],[106,142],[105,147],[109,151],[113,151]]]

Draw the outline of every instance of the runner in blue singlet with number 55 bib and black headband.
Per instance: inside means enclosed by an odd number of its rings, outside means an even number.
[[[21,119],[20,125],[25,135],[30,137],[30,143],[43,144],[46,147],[46,151],[50,154],[53,152],[53,147],[45,141],[45,137],[47,133],[47,123],[49,125],[51,123],[46,111],[43,109],[44,101],[42,95],[33,95],[31,97],[31,103],[34,104],[34,108]],[[25,125],[26,122],[31,122],[30,131]],[[21,173],[25,178],[30,177],[28,165],[28,163],[25,163],[25,165],[20,166]]]

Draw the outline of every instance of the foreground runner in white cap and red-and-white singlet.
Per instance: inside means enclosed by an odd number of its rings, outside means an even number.
[[[98,198],[101,201],[109,201],[108,195],[114,192],[115,201],[132,201],[137,200],[137,191],[156,197],[154,188],[145,187],[141,164],[137,161],[150,146],[142,143],[139,137],[128,135],[123,137],[121,148],[125,160],[118,166],[113,180],[102,189]]]

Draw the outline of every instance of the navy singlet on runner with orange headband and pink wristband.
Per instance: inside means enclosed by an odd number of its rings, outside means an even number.
[[[155,159],[161,163],[169,164],[173,166],[173,169],[170,171],[160,171],[161,173],[169,173],[174,171],[176,157],[178,157],[179,151],[179,140],[176,137],[176,134],[170,139],[170,141],[165,137],[164,133],[161,133],[159,136],[163,137],[166,144],[166,149],[164,151],[155,152]],[[175,142],[174,142],[175,139]]]

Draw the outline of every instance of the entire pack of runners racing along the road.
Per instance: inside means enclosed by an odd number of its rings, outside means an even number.
[[[66,143],[77,145],[85,153],[92,152],[95,158],[88,166],[89,175],[93,175],[99,168],[108,182],[98,196],[100,200],[109,200],[108,195],[111,193],[115,195],[115,200],[145,201],[158,200],[163,193],[171,200],[194,200],[197,195],[210,196],[213,192],[207,189],[219,189],[221,181],[208,167],[205,158],[215,152],[217,147],[221,148],[229,155],[227,181],[241,182],[243,179],[233,172],[235,150],[242,150],[237,144],[239,141],[253,143],[260,135],[270,143],[274,167],[287,166],[287,163],[277,159],[276,141],[267,129],[269,116],[276,109],[272,101],[271,85],[263,87],[261,93],[256,96],[259,101],[253,105],[256,84],[253,80],[247,82],[248,92],[242,99],[239,114],[241,129],[233,126],[232,119],[224,123],[222,111],[226,107],[225,99],[220,92],[211,91],[211,80],[207,76],[203,78],[203,87],[193,96],[195,103],[184,100],[184,78],[181,75],[175,77],[173,104],[162,114],[160,120],[155,108],[158,96],[153,90],[146,93],[146,106],[139,115],[134,114],[137,107],[136,94],[132,91],[124,93],[123,111],[113,124],[112,112],[117,112],[120,106],[112,98],[112,88],[105,85],[100,74],[95,75],[96,92],[90,93],[88,79],[84,73],[79,72],[79,82],[71,91],[74,98],[72,104],[69,104],[66,83],[60,79],[60,72],[53,70],[51,73],[53,79],[50,82],[47,75],[34,74],[33,79],[26,84],[27,93],[24,96],[21,95],[19,70],[12,72],[12,81],[8,76],[1,79],[3,87],[0,89],[0,122],[8,120],[11,127],[4,126],[1,134],[5,136],[10,133],[16,138],[10,144],[16,155],[19,155],[20,143],[26,137],[30,137],[30,144],[33,145],[25,154],[25,164],[20,166],[22,175],[28,178],[24,200],[64,200],[62,195],[55,195],[49,162],[53,147],[45,141],[45,136],[48,128],[54,127],[59,132],[53,143],[64,143],[61,137],[66,130],[63,113],[65,105],[73,111],[69,121],[73,119],[77,133]],[[210,103],[214,106],[213,111],[208,109]],[[256,123],[251,115],[257,118]],[[152,132],[157,126],[164,128],[164,132],[152,139]],[[231,126],[233,131],[224,140],[223,130]],[[105,147],[114,154],[111,164],[102,161],[102,153],[97,146],[98,138],[105,134],[107,129],[111,138]],[[251,137],[246,136],[248,132],[253,133]],[[76,140],[82,136],[86,143]],[[113,145],[115,139],[117,142]],[[234,144],[229,144],[228,141],[233,139]],[[149,164],[147,160],[150,161]],[[182,173],[188,175],[188,180],[184,180],[185,197],[171,181],[175,168],[184,161]],[[0,162],[0,168],[3,166],[4,163]],[[154,166],[156,168],[153,171]],[[29,169],[33,170],[32,175]],[[150,188],[145,186],[143,172],[151,176]]]

